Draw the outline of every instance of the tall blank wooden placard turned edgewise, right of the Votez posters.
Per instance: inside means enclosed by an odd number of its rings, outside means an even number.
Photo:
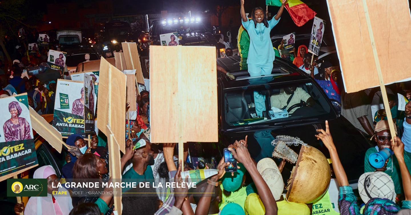
[[[101,59],[99,71],[97,128],[107,136],[112,132],[114,142],[125,153],[126,75],[104,58]]]

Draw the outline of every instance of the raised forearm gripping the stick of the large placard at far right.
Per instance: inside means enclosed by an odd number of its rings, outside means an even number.
[[[402,143],[399,137],[394,137],[391,145],[393,146],[393,151],[395,157],[397,157],[399,169],[401,170],[402,186],[404,187],[405,200],[409,201],[411,200],[411,176],[404,160],[404,143]]]

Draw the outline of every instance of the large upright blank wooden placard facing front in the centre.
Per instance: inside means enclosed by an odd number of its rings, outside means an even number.
[[[210,46],[150,46],[152,143],[179,142],[178,135],[183,142],[218,142],[215,52]],[[179,123],[182,133],[176,132]]]

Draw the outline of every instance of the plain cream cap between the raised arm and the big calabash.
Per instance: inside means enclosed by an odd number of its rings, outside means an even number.
[[[270,188],[274,199],[279,200],[284,191],[284,182],[277,164],[271,158],[263,158],[257,163],[257,170]]]

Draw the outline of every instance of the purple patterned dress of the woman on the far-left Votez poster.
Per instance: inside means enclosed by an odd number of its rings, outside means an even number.
[[[7,120],[3,126],[3,130],[6,142],[32,139],[30,135],[30,125],[28,121],[22,117],[18,117],[18,124],[13,124],[11,119]]]

